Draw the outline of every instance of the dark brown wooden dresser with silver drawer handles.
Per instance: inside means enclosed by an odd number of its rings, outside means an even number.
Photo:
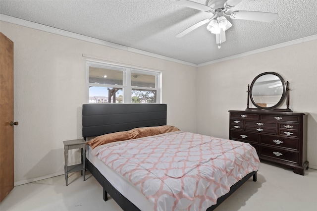
[[[304,175],[307,161],[307,113],[229,110],[229,139],[250,143],[261,160]]]

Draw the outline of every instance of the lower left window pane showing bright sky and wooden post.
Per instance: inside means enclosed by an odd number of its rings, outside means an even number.
[[[120,88],[89,87],[89,103],[123,103],[122,95]]]

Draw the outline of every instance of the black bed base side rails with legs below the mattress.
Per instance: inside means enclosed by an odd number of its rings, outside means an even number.
[[[87,170],[97,179],[97,181],[103,186],[104,200],[107,201],[107,194],[122,208],[124,211],[140,211],[134,204],[132,204],[127,198],[125,198],[119,191],[117,191],[109,181],[100,173],[100,171],[86,158]],[[232,185],[230,191],[218,198],[217,204],[212,205],[207,211],[213,211],[218,207],[225,199],[227,199],[233,192],[235,192],[241,185],[253,176],[253,181],[257,181],[257,171],[253,171],[243,177],[236,184]]]

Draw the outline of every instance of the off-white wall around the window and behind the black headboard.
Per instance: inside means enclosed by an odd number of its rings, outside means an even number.
[[[81,107],[88,102],[82,54],[161,70],[167,124],[196,132],[196,67],[2,21],[0,31],[14,42],[15,185],[63,174],[63,141],[82,138]]]

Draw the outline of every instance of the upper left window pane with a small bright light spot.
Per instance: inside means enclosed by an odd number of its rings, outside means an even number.
[[[89,67],[89,83],[123,85],[123,71]]]

